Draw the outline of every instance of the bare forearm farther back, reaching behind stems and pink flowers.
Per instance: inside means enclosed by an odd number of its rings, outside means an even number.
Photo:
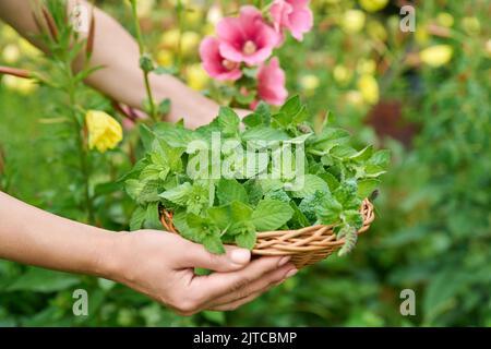
[[[36,40],[38,28],[34,22],[31,0],[0,0],[0,16],[34,45],[46,51]],[[69,1],[73,7],[74,1]],[[81,1],[91,7],[86,1]],[[69,10],[70,11],[70,10]],[[91,13],[91,11],[89,11]],[[91,14],[92,15],[92,14]],[[87,77],[86,83],[107,96],[134,108],[142,108],[146,98],[143,73],[139,68],[140,52],[134,38],[112,17],[95,9],[95,36],[91,67],[104,67]],[[81,33],[82,36],[85,35]],[[84,64],[85,55],[75,62],[75,70]],[[218,106],[171,75],[151,75],[154,99],[171,101],[168,121],[185,118],[189,127],[209,122]]]

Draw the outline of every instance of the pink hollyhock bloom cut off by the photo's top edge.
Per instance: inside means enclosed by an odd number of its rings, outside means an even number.
[[[313,14],[309,0],[275,0],[270,11],[277,33],[287,28],[291,36],[301,41],[303,34],[312,29]]]

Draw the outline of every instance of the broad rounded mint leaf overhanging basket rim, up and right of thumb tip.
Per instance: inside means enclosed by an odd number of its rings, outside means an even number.
[[[272,231],[290,220],[294,209],[290,205],[277,200],[260,201],[252,213],[252,224],[258,231]]]

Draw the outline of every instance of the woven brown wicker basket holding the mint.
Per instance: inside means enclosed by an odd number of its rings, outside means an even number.
[[[366,198],[360,213],[363,217],[363,226],[358,230],[362,233],[370,228],[375,218],[373,205]],[[172,214],[163,210],[160,221],[165,229],[178,233],[172,224]],[[258,233],[258,241],[252,254],[254,255],[290,255],[291,263],[300,269],[304,266],[318,263],[333,252],[340,249],[345,239],[336,239],[333,226],[312,226],[298,230],[277,230]]]

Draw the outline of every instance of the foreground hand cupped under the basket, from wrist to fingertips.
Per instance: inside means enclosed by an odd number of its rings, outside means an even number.
[[[297,272],[288,257],[250,258],[248,250],[227,246],[226,254],[214,255],[177,234],[141,230],[115,234],[103,263],[107,278],[191,315],[235,310]],[[216,273],[196,276],[194,267]]]

